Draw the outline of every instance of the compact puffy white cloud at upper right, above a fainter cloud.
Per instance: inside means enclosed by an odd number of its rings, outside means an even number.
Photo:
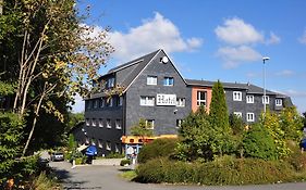
[[[217,37],[230,45],[247,45],[262,42],[264,36],[250,24],[234,17],[225,20],[222,26],[215,29]]]

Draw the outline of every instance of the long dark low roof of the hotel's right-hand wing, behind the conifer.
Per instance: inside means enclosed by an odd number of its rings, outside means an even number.
[[[199,87],[212,87],[216,81],[209,81],[209,80],[195,80],[195,79],[186,79],[186,83],[188,86],[199,86]],[[223,88],[225,89],[242,89],[247,90],[247,93],[264,93],[264,88],[252,85],[252,84],[240,84],[240,83],[222,83]],[[267,94],[274,94],[278,97],[286,97],[281,93],[277,93],[270,90],[266,90]]]

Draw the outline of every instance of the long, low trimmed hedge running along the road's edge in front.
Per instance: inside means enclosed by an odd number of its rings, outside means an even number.
[[[204,164],[156,159],[140,164],[136,173],[140,182],[247,185],[295,179],[294,169],[286,162],[257,159],[223,159]]]

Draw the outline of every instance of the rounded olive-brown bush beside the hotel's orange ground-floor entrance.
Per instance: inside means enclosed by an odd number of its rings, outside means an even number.
[[[156,139],[150,143],[145,144],[138,156],[138,163],[146,163],[149,160],[169,156],[174,153],[178,139]]]

